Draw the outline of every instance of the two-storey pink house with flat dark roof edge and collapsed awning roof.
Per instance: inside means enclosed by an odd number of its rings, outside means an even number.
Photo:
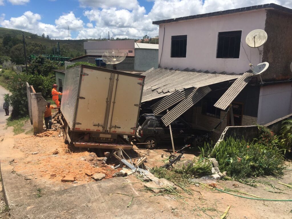
[[[155,114],[169,109],[165,125],[183,115],[220,133],[292,112],[292,9],[265,4],[153,24],[159,25],[159,68],[144,73],[142,102]],[[267,41],[251,48],[245,39],[255,29],[265,30]],[[263,84],[249,66],[261,62],[270,64]]]

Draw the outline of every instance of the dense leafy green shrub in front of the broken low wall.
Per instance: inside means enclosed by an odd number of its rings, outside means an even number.
[[[210,156],[216,158],[221,171],[227,171],[234,178],[283,174],[284,158],[275,144],[229,137],[221,141]]]

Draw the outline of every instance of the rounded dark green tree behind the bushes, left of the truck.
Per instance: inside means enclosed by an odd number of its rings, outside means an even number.
[[[30,62],[28,72],[32,75],[47,77],[53,69],[56,69],[55,63],[39,55]]]

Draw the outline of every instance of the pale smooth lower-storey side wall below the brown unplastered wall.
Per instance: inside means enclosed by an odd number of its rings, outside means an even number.
[[[260,88],[257,123],[264,125],[284,117],[291,110],[292,83],[282,83]]]

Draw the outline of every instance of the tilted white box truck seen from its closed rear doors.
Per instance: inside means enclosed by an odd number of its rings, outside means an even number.
[[[66,69],[61,102],[65,142],[131,149],[145,76],[78,65]]]

